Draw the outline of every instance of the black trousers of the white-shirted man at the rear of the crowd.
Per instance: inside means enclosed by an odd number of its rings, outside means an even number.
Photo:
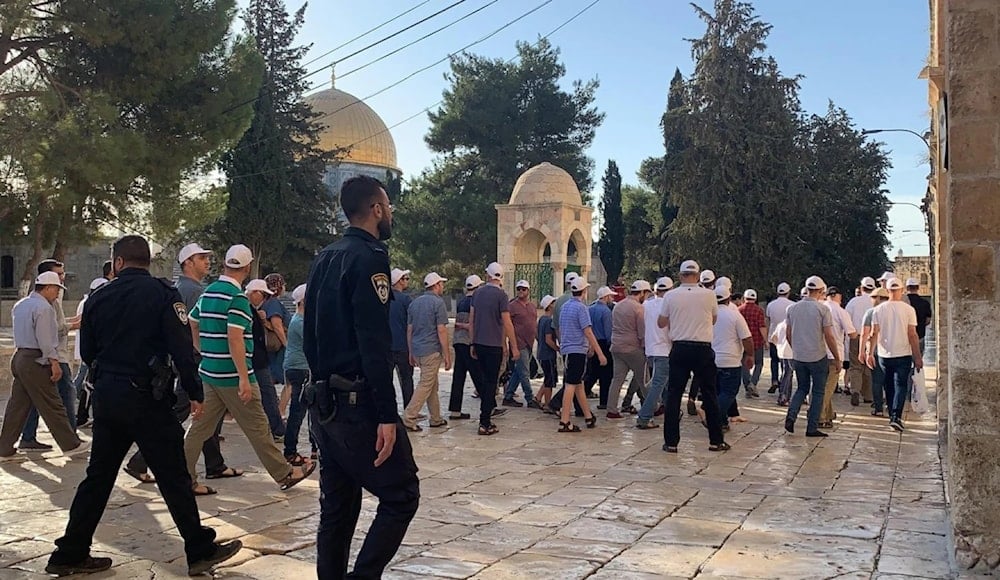
[[[676,447],[681,440],[681,399],[688,379],[700,387],[702,409],[708,422],[708,441],[718,445],[724,441],[716,388],[718,369],[710,343],[675,342],[670,349],[670,375],[667,379],[666,413],[663,416],[663,442]]]

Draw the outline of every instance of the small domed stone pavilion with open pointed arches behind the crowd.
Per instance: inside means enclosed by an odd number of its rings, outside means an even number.
[[[533,300],[562,294],[567,272],[590,275],[594,210],[564,169],[547,162],[528,169],[496,209],[497,261],[510,280],[531,283]]]

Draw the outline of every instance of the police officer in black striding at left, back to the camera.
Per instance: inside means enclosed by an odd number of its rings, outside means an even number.
[[[136,443],[184,538],[188,572],[207,572],[235,556],[242,543],[215,544],[215,531],[202,527],[184,460],[184,431],[172,409],[171,362],[197,401],[192,405],[204,400],[187,310],[170,282],[150,275],[145,239],[119,238],[111,259],[116,278],[87,300],[80,334],[81,358],[94,373],[90,465],[45,571],[64,576],[111,567],[110,558],[91,557],[90,546],[118,469]]]

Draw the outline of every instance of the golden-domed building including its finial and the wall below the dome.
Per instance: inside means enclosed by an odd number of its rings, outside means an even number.
[[[382,118],[363,101],[335,86],[306,97],[306,103],[320,114],[324,126],[320,149],[337,153],[326,166],[323,183],[336,201],[345,181],[359,175],[387,183],[389,176],[399,179],[402,172],[396,163],[396,143]],[[395,200],[394,200],[395,201]],[[338,206],[341,222],[346,219]]]

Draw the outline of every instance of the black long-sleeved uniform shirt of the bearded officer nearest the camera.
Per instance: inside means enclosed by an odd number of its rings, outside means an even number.
[[[395,423],[389,252],[368,232],[350,227],[324,248],[306,283],[303,350],[317,379],[364,377],[379,423]]]

